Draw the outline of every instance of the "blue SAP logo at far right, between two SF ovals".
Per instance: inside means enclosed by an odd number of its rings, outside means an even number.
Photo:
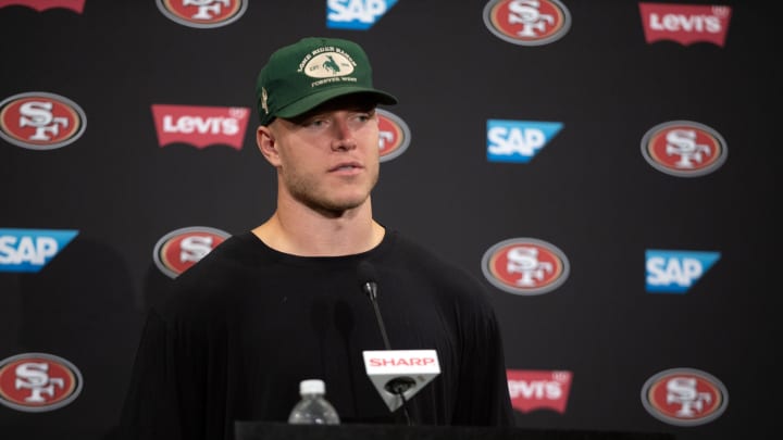
[[[720,252],[648,250],[647,291],[685,293],[719,259]]]

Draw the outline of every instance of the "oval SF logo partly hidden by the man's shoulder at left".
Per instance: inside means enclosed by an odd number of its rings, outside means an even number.
[[[152,259],[163,274],[176,278],[228,237],[228,232],[210,227],[176,229],[158,240]]]

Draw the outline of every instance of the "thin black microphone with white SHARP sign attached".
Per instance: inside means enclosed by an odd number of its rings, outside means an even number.
[[[435,350],[391,350],[377,303],[375,267],[363,260],[357,266],[357,274],[361,290],[375,311],[375,320],[386,348],[385,351],[364,351],[364,368],[388,408],[395,411],[402,406],[408,425],[411,425],[407,401],[440,374],[437,353]]]

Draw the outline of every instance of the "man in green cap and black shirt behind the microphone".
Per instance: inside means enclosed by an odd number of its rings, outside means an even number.
[[[384,350],[436,350],[440,375],[406,405],[417,425],[512,425],[502,343],[483,286],[373,219],[377,104],[358,45],[304,38],[259,74],[257,143],[277,209],[182,274],[152,306],[122,429],[144,439],[231,439],[235,420],[285,422],[320,378],[344,424],[399,423],[368,378]],[[361,263],[361,264],[360,264]],[[409,412],[409,414],[408,414]]]

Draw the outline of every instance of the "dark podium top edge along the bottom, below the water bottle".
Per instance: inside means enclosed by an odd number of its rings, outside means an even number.
[[[662,432],[523,429],[475,426],[289,425],[281,422],[234,423],[236,440],[674,440]]]

